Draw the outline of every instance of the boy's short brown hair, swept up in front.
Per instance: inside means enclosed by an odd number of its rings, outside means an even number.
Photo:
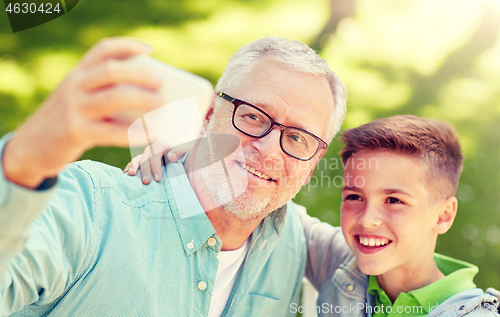
[[[434,201],[455,195],[463,167],[458,132],[443,121],[412,115],[378,119],[342,132],[342,161],[361,151],[390,151],[420,160]]]

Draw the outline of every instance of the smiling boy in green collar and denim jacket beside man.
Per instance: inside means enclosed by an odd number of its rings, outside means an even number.
[[[303,216],[306,277],[321,316],[496,316],[474,265],[434,253],[451,227],[462,171],[456,131],[409,115],[344,131],[341,225]],[[366,275],[368,276],[366,276]]]

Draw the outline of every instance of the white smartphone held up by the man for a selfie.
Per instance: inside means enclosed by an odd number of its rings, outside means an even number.
[[[145,146],[172,148],[199,138],[215,95],[212,84],[150,56],[139,55],[129,61],[160,75],[163,97],[163,106],[146,114],[124,111],[113,116],[115,120],[132,122],[129,127],[132,157],[142,153]]]

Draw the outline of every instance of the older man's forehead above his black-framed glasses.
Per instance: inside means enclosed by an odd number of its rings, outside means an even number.
[[[276,122],[325,138],[334,112],[326,76],[262,58],[241,81],[234,96],[261,108]]]

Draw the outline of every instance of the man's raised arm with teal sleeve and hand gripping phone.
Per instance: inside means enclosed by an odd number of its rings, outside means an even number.
[[[66,177],[54,197],[54,188],[33,189],[92,147],[129,145],[131,122],[114,117],[162,106],[159,78],[127,62],[150,51],[130,39],[99,42],[13,138],[0,142],[1,314],[54,300],[87,261],[89,221],[81,218],[92,214],[92,193],[80,186],[85,174]]]

